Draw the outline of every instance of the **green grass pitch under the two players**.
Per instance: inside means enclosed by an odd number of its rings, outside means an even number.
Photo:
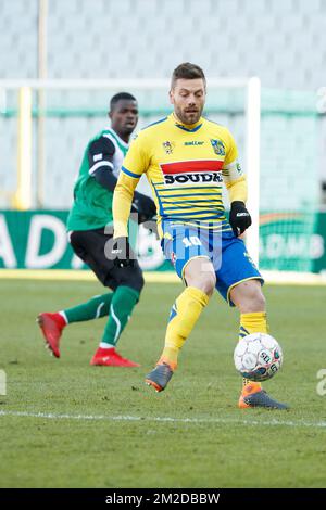
[[[239,410],[237,311],[215,295],[168,388],[143,383],[160,355],[177,284],[147,284],[120,350],[137,369],[90,367],[104,319],[70,326],[60,360],[35,323],[101,292],[97,283],[2,281],[0,412],[141,417],[138,421],[0,416],[1,487],[325,487],[325,289],[266,286],[281,372],[265,384],[289,411]],[[202,421],[155,421],[170,417]],[[215,420],[215,421],[214,421]],[[220,420],[220,421],[218,421]],[[281,421],[280,424],[273,420]],[[306,425],[310,422],[311,425]]]

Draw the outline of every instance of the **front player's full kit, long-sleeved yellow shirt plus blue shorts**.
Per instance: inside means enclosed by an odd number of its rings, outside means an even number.
[[[128,234],[134,190],[146,174],[158,208],[158,231],[165,257],[180,278],[190,259],[213,264],[216,289],[231,305],[230,290],[262,277],[225,217],[222,187],[230,202],[247,200],[236,143],[228,131],[205,118],[192,126],[174,114],[145,128],[131,142],[113,199],[114,237]]]

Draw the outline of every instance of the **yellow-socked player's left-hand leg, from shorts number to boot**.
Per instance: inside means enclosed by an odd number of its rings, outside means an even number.
[[[192,244],[195,238],[196,244]],[[165,246],[165,255],[175,263],[176,271],[187,286],[172,307],[162,355],[146,378],[146,382],[158,392],[165,388],[177,368],[179,352],[208,305],[216,283],[206,250],[189,229],[177,229],[174,239]]]

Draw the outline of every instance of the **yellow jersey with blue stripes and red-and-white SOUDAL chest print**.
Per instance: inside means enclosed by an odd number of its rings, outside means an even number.
[[[223,182],[227,188],[241,182],[237,200],[246,201],[235,140],[227,128],[203,117],[186,126],[172,113],[142,129],[123,162],[117,192],[131,194],[142,174],[152,188],[161,237],[162,220],[231,231]]]

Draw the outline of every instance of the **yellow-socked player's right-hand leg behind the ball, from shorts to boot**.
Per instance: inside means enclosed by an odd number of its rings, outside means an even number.
[[[262,276],[248,255],[244,243],[239,239],[226,241],[216,288],[240,311],[239,339],[268,330],[262,283]],[[271,398],[260,383],[248,380],[243,380],[239,407],[287,408]]]

